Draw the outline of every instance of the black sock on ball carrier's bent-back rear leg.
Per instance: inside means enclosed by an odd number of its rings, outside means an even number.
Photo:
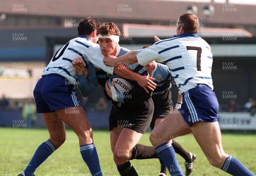
[[[132,150],[131,159],[158,158],[157,152],[151,146],[137,144]]]

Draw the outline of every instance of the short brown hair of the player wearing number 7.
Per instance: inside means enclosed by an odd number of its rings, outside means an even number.
[[[198,33],[199,20],[195,14],[183,14],[179,18],[178,28],[183,27],[184,33]]]

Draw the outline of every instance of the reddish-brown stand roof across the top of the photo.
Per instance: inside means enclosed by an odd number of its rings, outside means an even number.
[[[1,2],[2,1],[2,2]],[[209,17],[209,23],[242,25],[256,24],[256,6],[222,3],[177,2],[166,0],[0,0],[1,13],[20,15],[42,15],[59,17],[86,17],[93,16],[102,19],[122,19],[144,22],[169,21],[177,19],[180,14],[186,13],[187,7],[195,5],[198,8],[198,17],[203,20],[206,16],[203,9],[211,4],[215,13]],[[17,6],[26,8],[26,11],[15,11]],[[178,13],[177,13],[178,12]]]

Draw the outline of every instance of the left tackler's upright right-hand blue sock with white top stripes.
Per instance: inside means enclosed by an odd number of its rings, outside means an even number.
[[[89,167],[92,176],[102,176],[102,171],[99,165],[99,157],[93,143],[80,145],[80,152],[84,162]]]

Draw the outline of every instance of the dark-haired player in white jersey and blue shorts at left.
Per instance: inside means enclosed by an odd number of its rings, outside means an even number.
[[[76,69],[72,60],[90,53],[91,45],[98,40],[96,35],[99,21],[92,17],[81,20],[78,27],[79,37],[70,40],[52,57],[42,78],[34,89],[37,113],[42,113],[50,138],[35,151],[29,165],[19,176],[33,176],[33,173],[66,139],[64,122],[78,135],[81,156],[89,167],[90,173],[102,176],[99,158],[93,144],[93,133],[86,115],[76,97]],[[83,57],[84,59],[84,57]],[[85,61],[84,65],[88,63]],[[111,67],[109,71],[111,72]],[[74,113],[67,113],[74,110]]]

